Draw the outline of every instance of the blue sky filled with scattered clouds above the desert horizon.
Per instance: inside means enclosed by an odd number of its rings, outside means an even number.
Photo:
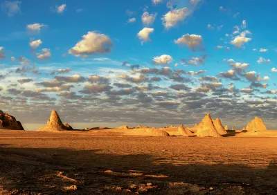
[[[277,129],[275,1],[0,1],[0,109],[25,129]]]

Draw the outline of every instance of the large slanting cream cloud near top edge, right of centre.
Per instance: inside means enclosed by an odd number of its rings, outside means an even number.
[[[165,28],[175,27],[180,21],[184,21],[188,16],[188,8],[181,8],[179,10],[170,10],[166,15],[163,15],[161,20]]]

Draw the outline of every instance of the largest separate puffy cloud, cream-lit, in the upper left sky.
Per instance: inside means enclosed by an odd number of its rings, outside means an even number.
[[[83,35],[82,38],[73,48],[69,49],[71,55],[79,57],[95,53],[109,53],[114,45],[107,35],[96,31],[87,32],[87,35]]]

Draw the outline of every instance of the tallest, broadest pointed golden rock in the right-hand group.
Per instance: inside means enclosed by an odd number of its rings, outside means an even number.
[[[197,137],[221,137],[220,133],[215,129],[211,115],[208,113],[197,126]]]

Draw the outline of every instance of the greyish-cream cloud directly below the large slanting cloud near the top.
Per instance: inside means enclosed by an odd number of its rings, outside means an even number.
[[[179,39],[175,40],[175,44],[186,45],[190,50],[195,51],[196,48],[202,48],[203,39],[201,35],[183,35]]]

